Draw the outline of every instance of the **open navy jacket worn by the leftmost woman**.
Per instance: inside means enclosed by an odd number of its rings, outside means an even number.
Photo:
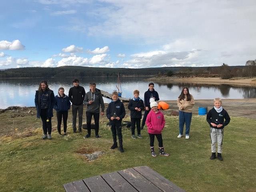
[[[54,102],[55,102],[55,98],[54,98],[54,92],[50,89],[48,89],[49,95],[48,95],[48,100],[49,100],[49,106],[48,106],[48,111],[47,111],[47,116],[53,117],[53,106],[54,106]],[[36,90],[36,95],[35,95],[35,105],[36,105],[36,110],[37,110],[37,114],[36,117],[40,118],[40,113],[41,113],[41,108],[40,108],[40,92],[38,90]]]

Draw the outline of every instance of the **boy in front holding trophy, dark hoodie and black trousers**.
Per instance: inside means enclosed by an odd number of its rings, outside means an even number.
[[[123,140],[122,140],[122,119],[125,116],[124,104],[118,98],[118,92],[114,91],[112,93],[112,102],[108,104],[106,111],[106,116],[110,121],[113,142],[114,144],[110,149],[117,148],[116,134],[119,140],[119,150],[121,153],[124,152]]]

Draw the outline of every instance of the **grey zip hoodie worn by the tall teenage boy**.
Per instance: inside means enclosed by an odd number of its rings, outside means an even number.
[[[92,104],[89,104],[89,101],[93,100],[94,102]],[[84,98],[84,104],[87,106],[87,110],[88,112],[91,113],[100,113],[100,106],[101,106],[101,111],[104,112],[104,101],[102,98],[102,94],[100,92],[99,89],[95,89],[95,92],[91,92],[88,91],[85,94],[85,98]]]

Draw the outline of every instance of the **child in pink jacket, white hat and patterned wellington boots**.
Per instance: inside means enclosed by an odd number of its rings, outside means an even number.
[[[156,153],[154,151],[154,138],[156,136],[158,140],[159,154],[164,156],[169,156],[168,153],[164,152],[163,139],[161,134],[165,124],[164,115],[160,110],[158,110],[157,102],[155,101],[151,102],[150,108],[151,110],[148,113],[148,116],[146,119],[146,125],[148,127],[148,135],[150,138],[151,155],[153,157],[156,157]]]

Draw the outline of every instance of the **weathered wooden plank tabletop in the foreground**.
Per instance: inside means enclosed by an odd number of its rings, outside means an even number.
[[[64,184],[66,192],[185,192],[148,166]]]

